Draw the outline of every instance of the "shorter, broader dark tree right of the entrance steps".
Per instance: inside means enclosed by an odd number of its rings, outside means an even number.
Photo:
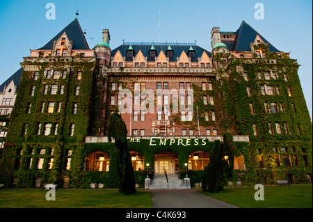
[[[223,143],[219,140],[214,142],[214,148],[210,152],[210,162],[204,168],[202,190],[217,193],[227,185],[228,178],[234,171],[234,155],[238,154],[232,134],[223,134]]]

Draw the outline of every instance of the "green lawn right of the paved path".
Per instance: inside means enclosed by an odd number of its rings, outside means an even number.
[[[312,208],[312,184],[291,186],[264,186],[264,200],[255,200],[252,188],[227,188],[219,193],[202,192],[244,208]]]

